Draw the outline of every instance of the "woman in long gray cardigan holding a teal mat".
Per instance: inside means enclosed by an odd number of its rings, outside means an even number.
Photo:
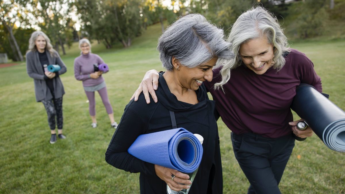
[[[60,70],[50,72],[47,65],[59,65]],[[58,126],[58,137],[65,139],[62,135],[62,95],[65,94],[59,75],[64,74],[67,69],[63,64],[58,52],[52,48],[48,36],[35,31],[29,39],[29,50],[26,54],[26,67],[28,75],[33,78],[36,101],[41,101],[46,108],[48,124],[50,127],[50,143],[57,141],[55,126]],[[56,122],[55,122],[56,117]]]

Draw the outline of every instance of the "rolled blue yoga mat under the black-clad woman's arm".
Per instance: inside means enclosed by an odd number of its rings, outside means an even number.
[[[199,167],[203,146],[193,133],[176,128],[139,135],[128,153],[145,162],[191,173]]]

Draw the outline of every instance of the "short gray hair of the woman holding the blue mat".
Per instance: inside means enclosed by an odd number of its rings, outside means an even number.
[[[224,32],[200,14],[188,14],[173,22],[158,39],[162,66],[171,71],[174,56],[183,66],[193,68],[212,58],[232,59],[231,43]]]

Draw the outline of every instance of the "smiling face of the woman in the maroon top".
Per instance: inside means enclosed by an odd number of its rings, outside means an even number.
[[[240,46],[239,54],[243,63],[258,75],[263,75],[274,64],[273,45],[266,37],[259,37]]]

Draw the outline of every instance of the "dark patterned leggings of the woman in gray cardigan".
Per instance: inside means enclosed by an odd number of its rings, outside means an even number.
[[[48,124],[51,130],[55,129],[55,116],[58,125],[58,129],[62,129],[63,117],[62,117],[62,97],[53,98],[51,100],[41,101],[46,108],[48,116]]]

